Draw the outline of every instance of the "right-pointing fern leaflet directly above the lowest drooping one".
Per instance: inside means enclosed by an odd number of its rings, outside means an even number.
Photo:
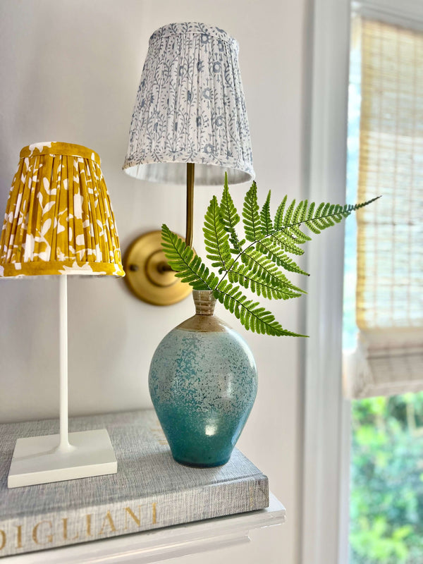
[[[302,294],[302,290],[295,288],[291,285],[288,280],[283,283],[282,280],[278,280],[278,283],[272,283],[272,281],[263,281],[262,276],[259,274],[252,274],[250,268],[245,264],[239,264],[236,262],[231,266],[231,271],[228,272],[228,280],[231,283],[238,283],[244,288],[250,288],[250,290],[257,295],[262,295],[264,298],[274,298],[275,300],[289,300],[290,298],[299,298]],[[219,289],[219,286],[217,286]]]

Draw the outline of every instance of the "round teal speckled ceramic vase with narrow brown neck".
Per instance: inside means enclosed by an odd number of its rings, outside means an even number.
[[[231,458],[257,394],[257,369],[242,337],[214,316],[211,291],[194,290],[195,316],[166,335],[149,369],[149,391],[173,458],[220,466]]]

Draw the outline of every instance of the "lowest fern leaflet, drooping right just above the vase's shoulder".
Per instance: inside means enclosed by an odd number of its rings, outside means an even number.
[[[271,312],[266,311],[258,302],[249,300],[239,286],[223,281],[219,284],[219,290],[214,290],[214,296],[226,309],[235,314],[247,331],[274,336],[303,336],[283,329]]]

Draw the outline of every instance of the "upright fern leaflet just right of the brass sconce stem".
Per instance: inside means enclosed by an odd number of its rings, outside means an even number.
[[[222,271],[230,268],[233,259],[216,196],[210,200],[206,215],[204,216],[204,243],[208,252],[207,258],[212,261],[212,266]]]

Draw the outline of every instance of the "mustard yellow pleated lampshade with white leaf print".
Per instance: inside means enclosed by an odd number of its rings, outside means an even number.
[[[97,153],[36,143],[20,152],[0,240],[0,276],[125,276]]]

